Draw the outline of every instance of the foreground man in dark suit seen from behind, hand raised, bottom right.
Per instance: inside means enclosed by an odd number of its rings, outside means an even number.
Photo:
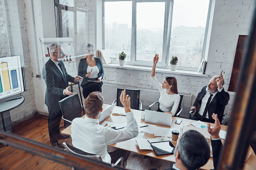
[[[208,132],[211,134],[212,138],[213,165],[214,169],[217,169],[218,157],[222,147],[222,142],[219,136],[221,125],[217,114],[213,113],[212,118],[215,120],[214,127],[211,128],[210,123],[208,123],[207,126]],[[210,158],[210,146],[201,133],[195,130],[188,130],[178,141],[174,155],[176,163],[168,170],[195,170],[207,163]]]

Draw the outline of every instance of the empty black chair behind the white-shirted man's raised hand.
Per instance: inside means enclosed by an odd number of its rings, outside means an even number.
[[[117,106],[123,107],[120,101],[120,95],[124,89],[117,88],[117,100],[114,100],[112,104],[117,102]],[[142,110],[142,103],[139,101],[140,90],[139,89],[125,89],[126,94],[131,97],[131,109]]]

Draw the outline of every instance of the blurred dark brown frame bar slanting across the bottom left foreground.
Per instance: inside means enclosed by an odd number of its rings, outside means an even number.
[[[68,151],[57,149],[49,145],[4,131],[0,131],[0,143],[8,144],[15,148],[25,150],[41,157],[73,166],[76,169],[124,169],[116,166],[112,167],[108,163],[82,157]]]

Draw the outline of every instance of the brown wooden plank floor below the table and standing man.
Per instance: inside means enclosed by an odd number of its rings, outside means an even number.
[[[37,114],[13,126],[13,133],[50,145],[47,122],[47,116]],[[61,143],[64,141],[71,144],[71,137],[59,140]],[[116,149],[111,146],[108,146],[108,152],[113,162],[120,156],[124,157],[124,164],[127,169],[142,170],[156,168],[161,170],[172,166],[172,162],[169,161],[144,157],[144,155]],[[11,146],[0,144],[0,169],[71,169],[71,167]]]

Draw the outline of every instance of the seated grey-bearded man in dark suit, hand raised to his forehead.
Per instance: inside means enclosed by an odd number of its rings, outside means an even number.
[[[229,94],[225,92],[223,85],[222,73],[212,77],[209,84],[198,93],[194,105],[190,108],[190,111],[196,110],[195,116],[190,119],[214,123],[212,114],[215,113],[218,115],[218,119],[222,120],[225,106],[229,100]]]

